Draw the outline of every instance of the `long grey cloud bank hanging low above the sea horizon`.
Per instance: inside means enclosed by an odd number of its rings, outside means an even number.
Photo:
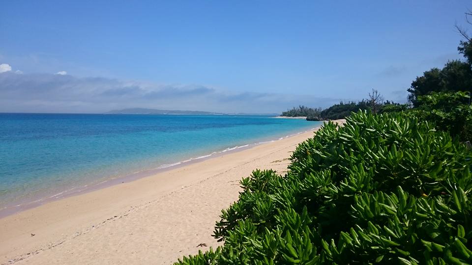
[[[298,105],[330,106],[339,98],[234,93],[204,85],[162,85],[57,74],[0,74],[0,112],[106,112],[127,107],[220,112],[281,112]]]

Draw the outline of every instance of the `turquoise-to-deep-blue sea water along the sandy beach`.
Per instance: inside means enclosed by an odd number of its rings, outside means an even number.
[[[0,210],[319,124],[238,115],[0,113]]]

